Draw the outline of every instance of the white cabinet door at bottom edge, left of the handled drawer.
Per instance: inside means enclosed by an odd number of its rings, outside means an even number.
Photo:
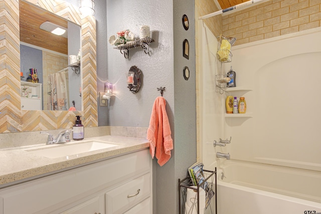
[[[100,212],[99,197],[91,198],[83,203],[80,203],[61,214],[103,214]]]

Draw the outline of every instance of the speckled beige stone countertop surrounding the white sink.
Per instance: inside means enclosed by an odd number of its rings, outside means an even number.
[[[107,141],[116,146],[58,158],[43,157],[30,152],[36,149],[84,143],[88,140]],[[106,135],[62,144],[46,145],[44,142],[44,144],[0,149],[0,188],[148,147],[149,142],[146,139]]]

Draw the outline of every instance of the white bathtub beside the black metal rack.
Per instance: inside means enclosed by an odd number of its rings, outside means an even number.
[[[321,213],[321,172],[227,160],[217,179],[219,214]]]

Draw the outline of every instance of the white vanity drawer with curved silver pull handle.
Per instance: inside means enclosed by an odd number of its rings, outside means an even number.
[[[144,174],[132,181],[106,193],[106,214],[123,213],[151,193],[151,173]]]

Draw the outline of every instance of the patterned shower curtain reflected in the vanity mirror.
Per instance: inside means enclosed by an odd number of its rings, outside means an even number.
[[[48,110],[68,110],[68,81],[66,73],[54,73],[48,76]]]

